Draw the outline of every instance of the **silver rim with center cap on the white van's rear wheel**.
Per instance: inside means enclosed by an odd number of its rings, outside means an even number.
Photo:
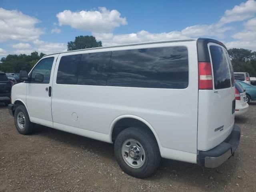
[[[143,146],[134,139],[128,139],[122,144],[122,157],[132,168],[140,168],[146,159]]]

